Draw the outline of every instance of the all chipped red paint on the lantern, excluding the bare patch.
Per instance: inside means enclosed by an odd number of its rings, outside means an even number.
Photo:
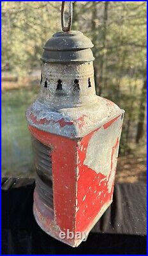
[[[114,182],[111,183],[110,192],[108,191],[108,182],[112,172],[115,172],[113,162],[115,161],[115,152],[119,147],[119,138],[116,138],[115,145],[110,148],[111,157],[108,160],[110,161],[110,173],[108,175],[103,175],[101,170],[96,173],[84,164],[84,161],[89,141],[94,133],[108,129],[118,118],[119,116],[115,117],[79,140],[50,134],[29,125],[31,134],[37,140],[53,148],[54,217],[51,216],[50,212],[48,214],[45,206],[41,206],[41,203],[37,202],[38,195],[36,192],[34,193],[34,205],[36,205],[34,212],[36,212],[36,220],[43,227],[43,230],[57,239],[59,239],[59,231],[56,226],[63,231],[69,229],[73,232],[87,232],[91,229],[92,223],[103,207],[112,202]],[[66,240],[66,243],[75,244],[76,241]]]

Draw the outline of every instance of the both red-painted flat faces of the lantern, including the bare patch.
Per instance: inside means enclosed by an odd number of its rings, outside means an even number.
[[[121,125],[121,116],[117,116],[81,140],[71,140],[50,134],[29,125],[31,134],[37,140],[52,147],[56,220],[54,225],[57,225],[60,230],[89,231],[97,218],[100,218],[101,212],[103,213],[107,205],[112,202]],[[95,136],[98,136],[97,140]],[[108,141],[105,142],[107,138]],[[99,160],[93,153],[96,152],[97,143],[99,158],[100,154],[104,154],[105,156],[102,157],[106,157],[107,166],[109,166],[105,171],[103,171],[105,160],[101,158]],[[89,150],[93,150],[92,154]]]

